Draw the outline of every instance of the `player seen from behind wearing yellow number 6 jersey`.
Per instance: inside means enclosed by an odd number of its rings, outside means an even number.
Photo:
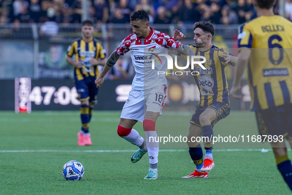
[[[250,108],[255,111],[259,134],[262,140],[273,136],[269,142],[277,167],[292,190],[292,165],[283,140],[287,136],[292,146],[292,22],[274,15],[274,3],[254,0],[258,17],[240,27],[238,67],[230,94],[242,97],[237,93],[248,66]]]

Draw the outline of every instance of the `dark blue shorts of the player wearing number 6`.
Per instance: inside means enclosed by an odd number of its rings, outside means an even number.
[[[292,104],[255,111],[259,135],[287,136],[292,140]]]

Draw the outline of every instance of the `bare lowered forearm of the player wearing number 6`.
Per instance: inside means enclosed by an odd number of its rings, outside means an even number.
[[[244,74],[244,71],[249,63],[250,60],[250,49],[242,49],[239,54],[238,54],[238,60],[236,62],[236,74],[235,74],[235,78],[233,81],[233,85],[232,88],[230,90],[230,95],[233,98],[238,98],[238,99],[242,99],[242,94],[241,95],[237,95],[237,93],[240,93],[241,91],[241,78]]]

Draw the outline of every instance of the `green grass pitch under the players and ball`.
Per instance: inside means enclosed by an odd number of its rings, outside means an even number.
[[[158,134],[166,127],[187,135],[191,115],[164,112],[157,122]],[[93,145],[80,147],[78,111],[0,112],[0,150],[135,150],[116,133],[119,117],[120,112],[95,111],[90,124]],[[141,123],[134,128],[143,135]],[[245,135],[257,135],[254,114],[232,112],[215,125],[214,134],[228,135],[235,128]],[[216,151],[209,178],[182,179],[195,166],[186,147],[173,149],[185,151],[159,153],[157,181],[143,180],[149,167],[147,154],[131,163],[133,152],[0,152],[0,194],[290,194],[271,151]],[[63,178],[62,167],[69,160],[83,164],[81,181]]]

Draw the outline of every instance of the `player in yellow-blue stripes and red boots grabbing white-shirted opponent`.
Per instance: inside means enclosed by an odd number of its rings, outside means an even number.
[[[179,31],[174,32],[175,34]],[[190,156],[196,165],[194,173],[183,178],[200,177],[207,178],[208,172],[214,167],[213,149],[213,126],[219,120],[225,118],[230,113],[230,102],[228,84],[225,75],[225,66],[235,65],[237,57],[227,53],[224,49],[219,49],[212,45],[211,40],[215,34],[215,29],[210,22],[196,22],[194,25],[194,42],[190,46],[195,55],[206,57],[203,63],[206,70],[199,65],[194,70],[200,74],[193,75],[200,91],[201,100],[197,104],[197,109],[190,120],[188,146]],[[182,39],[184,38],[181,36]],[[187,59],[185,55],[182,55]],[[203,140],[206,150],[203,160],[203,149],[199,142],[194,142],[192,137],[207,137]]]

